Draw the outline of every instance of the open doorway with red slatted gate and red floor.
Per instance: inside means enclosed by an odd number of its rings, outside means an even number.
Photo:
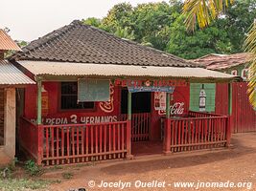
[[[162,141],[151,140],[151,92],[131,95],[131,153],[134,156],[162,154]],[[128,89],[121,92],[121,113],[128,114]]]

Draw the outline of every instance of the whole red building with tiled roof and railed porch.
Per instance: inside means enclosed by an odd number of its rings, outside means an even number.
[[[25,90],[19,136],[21,147],[39,164],[229,144],[228,116],[188,108],[190,83],[230,82],[234,75],[80,21],[33,41],[12,62],[37,83]]]

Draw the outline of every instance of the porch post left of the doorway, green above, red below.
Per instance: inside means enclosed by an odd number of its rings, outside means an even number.
[[[128,147],[128,154],[127,159],[132,159],[133,156],[131,155],[131,93],[128,92],[128,127],[127,127],[127,147]]]

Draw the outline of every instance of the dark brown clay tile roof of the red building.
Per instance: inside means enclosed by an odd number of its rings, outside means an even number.
[[[120,64],[140,66],[198,67],[179,58],[110,33],[73,21],[57,31],[31,42],[15,60],[59,61],[72,63]]]

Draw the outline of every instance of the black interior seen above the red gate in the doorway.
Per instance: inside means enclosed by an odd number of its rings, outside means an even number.
[[[132,114],[151,112],[151,93],[132,93],[131,95]],[[128,114],[128,89],[122,89],[121,113]]]

